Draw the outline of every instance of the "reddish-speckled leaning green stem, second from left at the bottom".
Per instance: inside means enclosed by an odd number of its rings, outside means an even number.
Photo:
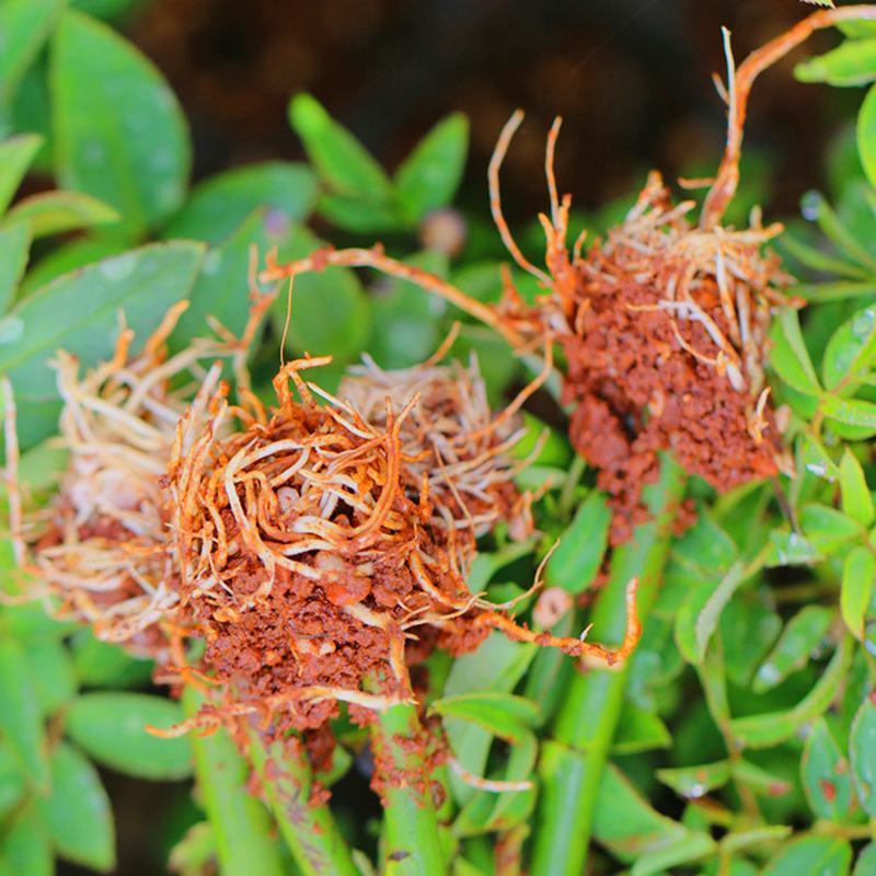
[[[303,876],[359,876],[327,804],[311,799],[313,774],[292,737],[266,741],[250,729],[250,757],[266,802]]]

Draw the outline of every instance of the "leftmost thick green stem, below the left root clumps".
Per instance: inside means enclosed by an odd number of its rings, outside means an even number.
[[[203,700],[187,689],[183,707],[196,715]],[[192,737],[195,776],[200,800],[216,837],[222,876],[283,876],[283,856],[270,839],[272,822],[265,807],[246,791],[250,769],[222,728],[212,736]]]

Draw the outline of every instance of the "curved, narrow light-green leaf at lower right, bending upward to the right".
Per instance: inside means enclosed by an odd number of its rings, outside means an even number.
[[[803,700],[786,712],[765,712],[734,718],[730,722],[734,737],[748,748],[771,748],[791,739],[806,722],[819,717],[827,711],[849,670],[851,659],[851,639],[846,636],[840,643],[821,678]]]

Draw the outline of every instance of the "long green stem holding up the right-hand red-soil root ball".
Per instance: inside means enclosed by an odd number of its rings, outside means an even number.
[[[664,458],[660,480],[646,495],[653,519],[614,551],[611,576],[593,612],[593,641],[620,643],[624,593],[638,578],[638,616],[644,624],[669,555],[671,523],[684,488],[681,469]],[[602,770],[623,706],[629,662],[620,669],[576,673],[542,748],[542,795],[533,831],[531,876],[580,876],[585,871]]]

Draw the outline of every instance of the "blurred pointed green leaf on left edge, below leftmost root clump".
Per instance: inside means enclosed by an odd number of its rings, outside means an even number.
[[[0,637],[0,730],[26,775],[48,787],[48,758],[39,698],[31,684],[27,658],[9,635]]]

